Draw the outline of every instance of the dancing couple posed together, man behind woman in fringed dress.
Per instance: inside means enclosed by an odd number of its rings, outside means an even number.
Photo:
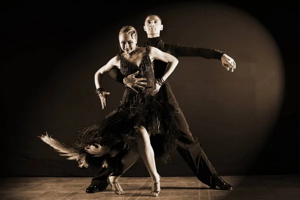
[[[118,106],[99,123],[79,131],[74,145],[68,147],[48,134],[41,139],[60,152],[74,159],[80,167],[89,164],[99,167],[87,193],[103,190],[108,184],[116,194],[124,194],[118,178],[141,156],[152,179],[151,196],[160,193],[160,175],[155,158],[164,162],[169,152],[177,149],[196,177],[203,183],[223,190],[232,190],[217,174],[205,155],[198,139],[189,131],[185,117],[171,91],[167,78],[178,64],[176,57],[199,56],[219,59],[222,66],[233,71],[234,60],[226,53],[202,47],[165,44],[159,36],[163,29],[161,18],[149,14],[144,21],[148,35],[142,47],[137,45],[137,31],[123,26],[118,35],[123,52],[112,57],[94,76],[96,95],[102,109],[109,92],[101,84],[102,76],[109,74],[125,84],[125,91]]]

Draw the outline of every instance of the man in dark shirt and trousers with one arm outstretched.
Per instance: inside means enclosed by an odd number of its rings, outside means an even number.
[[[161,23],[161,18],[155,14],[149,14],[146,16],[144,21],[144,31],[147,33],[147,41],[143,46],[150,45],[159,48],[160,50],[170,53],[175,57],[180,56],[198,56],[206,59],[218,59],[221,60],[222,66],[224,66],[227,70],[235,69],[234,60],[226,55],[225,52],[210,49],[210,48],[201,48],[201,47],[189,47],[183,46],[180,44],[165,44],[160,39],[160,31],[163,29],[163,25]],[[154,74],[155,78],[161,77],[163,74],[167,63],[162,62],[160,60],[154,60]],[[112,69],[109,74],[118,82],[125,84],[136,90],[135,87],[143,88],[144,78],[135,78],[137,73],[133,73],[129,76],[124,77],[119,69]],[[196,177],[203,182],[204,184],[210,186],[210,188],[214,189],[218,186],[223,190],[232,190],[232,186],[226,183],[215,171],[214,167],[208,160],[205,155],[201,144],[198,139],[194,137],[189,131],[189,126],[185,120],[185,117],[176,101],[174,94],[172,93],[171,87],[166,80],[164,84],[160,87],[157,95],[160,95],[162,98],[168,100],[170,104],[172,104],[175,111],[175,120],[176,125],[180,131],[180,138],[177,142],[177,150],[179,154],[184,158],[187,162],[191,170],[194,172]],[[99,171],[94,175],[91,180],[91,184],[86,188],[86,193],[92,193],[96,190],[103,190],[107,187],[108,183],[106,182],[107,177],[110,173],[112,173],[111,168],[100,168]]]

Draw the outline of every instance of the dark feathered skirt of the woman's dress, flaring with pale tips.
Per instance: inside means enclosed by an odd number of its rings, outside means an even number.
[[[174,107],[155,95],[132,98],[126,91],[124,96],[128,98],[123,98],[117,108],[98,124],[80,128],[78,138],[71,147],[47,133],[40,138],[59,155],[76,160],[79,167],[88,167],[89,164],[98,166],[99,163],[107,167],[109,164],[116,165],[114,157],[118,157],[120,152],[130,150],[138,129],[143,127],[150,135],[155,157],[167,163],[170,159],[168,152],[176,148],[179,137],[173,117]],[[96,162],[92,161],[95,159]]]

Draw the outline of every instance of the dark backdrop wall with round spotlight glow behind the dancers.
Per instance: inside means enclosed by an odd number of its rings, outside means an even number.
[[[221,3],[220,3],[221,2]],[[219,174],[299,173],[299,16],[296,6],[255,1],[11,2],[1,6],[1,176],[92,176],[37,136],[65,144],[96,123],[124,89],[109,75],[100,108],[94,72],[118,53],[117,34],[132,24],[138,44],[147,13],[162,18],[165,42],[225,51],[237,65],[180,57],[172,90]],[[106,13],[105,13],[106,12]],[[192,175],[177,152],[163,176]],[[178,170],[180,169],[180,170]],[[141,159],[124,176],[147,176]]]

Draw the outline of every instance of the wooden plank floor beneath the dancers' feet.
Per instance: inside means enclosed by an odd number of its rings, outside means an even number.
[[[91,177],[0,177],[0,199],[168,199],[168,200],[299,200],[300,174],[222,176],[232,191],[209,189],[195,177],[162,177],[161,193],[150,196],[149,177],[121,177],[125,195],[104,191],[85,193]]]

